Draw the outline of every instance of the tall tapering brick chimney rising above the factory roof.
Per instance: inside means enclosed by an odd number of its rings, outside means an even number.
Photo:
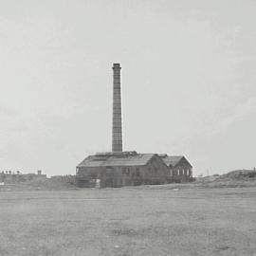
[[[122,152],[120,64],[113,64],[112,152]]]

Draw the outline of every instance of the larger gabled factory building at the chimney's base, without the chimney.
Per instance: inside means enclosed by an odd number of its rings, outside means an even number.
[[[156,154],[100,153],[87,156],[77,166],[79,187],[122,187],[164,184],[168,166]]]

